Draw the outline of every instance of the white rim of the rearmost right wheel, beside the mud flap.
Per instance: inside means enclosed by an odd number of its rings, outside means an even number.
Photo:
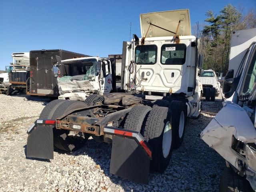
[[[170,121],[168,121],[164,127],[164,135],[163,135],[163,143],[162,143],[162,151],[163,151],[164,158],[167,158],[167,156],[169,155],[171,146],[172,146],[172,126],[170,124]]]

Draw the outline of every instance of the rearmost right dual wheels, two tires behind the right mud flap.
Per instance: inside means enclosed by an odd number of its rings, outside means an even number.
[[[138,131],[152,149],[150,169],[156,172],[166,170],[172,155],[172,125],[169,108],[135,106],[126,117],[124,128]]]

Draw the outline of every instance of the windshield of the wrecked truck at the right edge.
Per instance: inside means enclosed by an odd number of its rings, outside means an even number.
[[[245,77],[244,87],[242,91],[242,95],[250,95],[252,93],[252,89],[256,83],[256,51],[254,52],[254,56],[248,68],[248,72]]]

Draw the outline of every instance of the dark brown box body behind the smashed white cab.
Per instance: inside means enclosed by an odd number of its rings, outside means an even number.
[[[56,56],[61,60],[88,57],[88,55],[61,49],[30,51],[30,76],[26,82],[26,94],[58,97],[58,86],[52,71],[57,63]],[[60,76],[69,73],[68,66],[60,66]]]

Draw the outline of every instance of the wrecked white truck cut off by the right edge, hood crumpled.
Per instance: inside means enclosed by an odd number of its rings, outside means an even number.
[[[228,99],[201,138],[226,160],[220,192],[256,191],[256,28],[232,32],[223,93]]]

